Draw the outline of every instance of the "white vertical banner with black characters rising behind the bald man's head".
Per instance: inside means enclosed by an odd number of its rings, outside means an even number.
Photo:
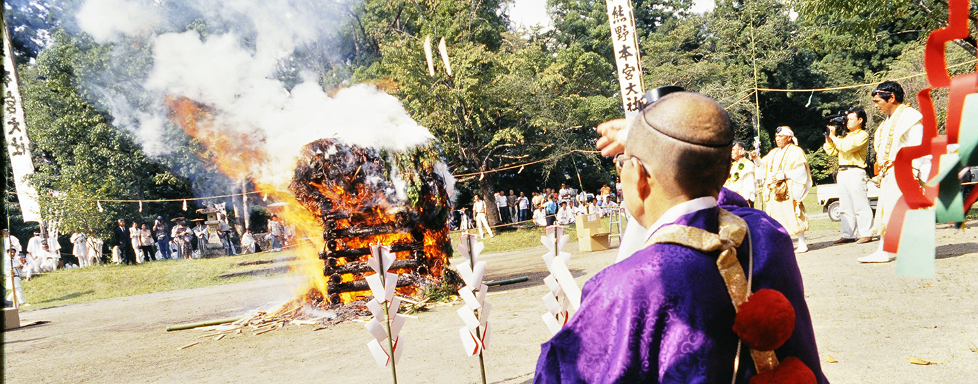
[[[621,104],[625,108],[625,118],[631,119],[639,114],[639,100],[645,96],[639,37],[635,34],[635,14],[632,12],[631,0],[605,0],[605,3],[608,8],[608,24],[611,25],[614,61],[618,66]]]

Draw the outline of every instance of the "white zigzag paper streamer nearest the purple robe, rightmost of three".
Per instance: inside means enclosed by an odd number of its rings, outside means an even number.
[[[564,235],[563,227],[556,225],[547,227],[547,235],[540,236],[540,242],[550,251],[543,255],[543,259],[551,273],[544,278],[550,292],[543,297],[548,312],[541,319],[554,334],[570,320],[568,305],[574,310],[581,306],[581,288],[567,269],[570,253],[561,251],[569,240],[570,235]]]

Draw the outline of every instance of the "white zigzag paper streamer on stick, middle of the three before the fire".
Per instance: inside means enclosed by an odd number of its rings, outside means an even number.
[[[489,348],[489,335],[492,328],[489,324],[489,312],[492,304],[485,300],[489,286],[482,283],[482,276],[485,274],[486,262],[476,262],[475,258],[482,252],[484,244],[478,241],[475,235],[465,233],[461,236],[459,243],[459,253],[467,257],[468,261],[459,265],[459,275],[462,275],[466,286],[459,289],[459,297],[465,301],[466,305],[459,310],[459,317],[466,323],[459,329],[459,337],[462,338],[462,347],[467,356],[479,356],[479,367],[482,373],[482,382],[486,382],[485,363],[482,360],[482,351]]]

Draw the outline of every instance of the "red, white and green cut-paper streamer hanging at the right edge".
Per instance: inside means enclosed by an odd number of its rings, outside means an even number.
[[[894,161],[894,177],[903,196],[887,223],[883,250],[897,253],[898,274],[933,277],[934,223],[963,222],[964,214],[978,199],[978,189],[962,196],[957,178],[963,167],[978,165],[975,151],[978,146],[978,74],[972,72],[952,77],[945,57],[946,43],[968,35],[968,1],[950,0],[948,26],[931,32],[924,51],[930,87],[917,93],[917,103],[923,114],[923,140],[919,146],[900,149]],[[949,88],[947,134],[943,136],[938,135],[931,98],[931,91],[938,88]],[[911,161],[927,155],[932,156],[936,166],[931,166],[927,182],[921,188],[913,176]]]

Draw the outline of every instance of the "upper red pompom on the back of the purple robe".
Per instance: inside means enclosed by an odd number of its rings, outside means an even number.
[[[794,331],[794,307],[781,292],[758,289],[740,305],[733,331],[750,348],[774,351]]]

